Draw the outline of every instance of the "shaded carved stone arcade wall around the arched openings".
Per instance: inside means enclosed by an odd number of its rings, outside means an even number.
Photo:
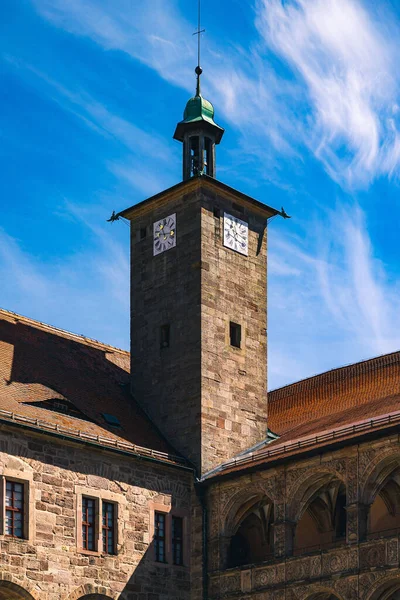
[[[398,469],[400,442],[395,434],[312,458],[292,458],[286,464],[211,483],[210,598],[392,598],[388,590],[400,589],[400,529],[371,536],[367,517],[380,486]],[[346,538],[333,547],[304,548],[293,556],[296,523],[305,503],[315,497],[316,482],[334,479],[346,486]],[[249,499],[262,495],[275,508],[274,556],[260,564],[227,568],[227,548],[235,533],[234,515]]]

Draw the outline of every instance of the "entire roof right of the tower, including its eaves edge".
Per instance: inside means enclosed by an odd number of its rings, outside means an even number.
[[[340,367],[268,394],[270,443],[227,461],[211,479],[400,425],[400,352]]]

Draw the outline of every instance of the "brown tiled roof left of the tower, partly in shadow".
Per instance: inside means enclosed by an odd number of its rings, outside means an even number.
[[[183,462],[130,395],[129,369],[125,350],[0,309],[1,420]],[[71,414],[49,410],[57,401]]]

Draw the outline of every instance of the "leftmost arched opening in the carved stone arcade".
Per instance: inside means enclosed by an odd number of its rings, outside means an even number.
[[[268,499],[253,501],[239,512],[228,550],[228,568],[260,563],[273,553],[273,504]]]

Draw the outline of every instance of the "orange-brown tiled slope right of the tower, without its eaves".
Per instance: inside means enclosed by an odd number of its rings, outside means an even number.
[[[268,394],[281,440],[400,410],[400,352],[333,369]]]

